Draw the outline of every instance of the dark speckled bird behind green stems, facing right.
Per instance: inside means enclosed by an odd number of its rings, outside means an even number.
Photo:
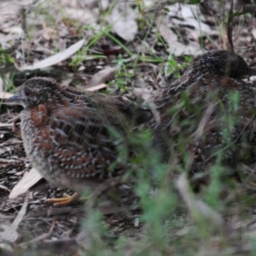
[[[212,50],[156,91],[149,100],[154,118],[146,125],[163,158],[187,154],[191,173],[206,172],[218,157],[224,166],[236,166],[256,128],[255,90],[242,80],[253,75],[256,70],[240,55]]]

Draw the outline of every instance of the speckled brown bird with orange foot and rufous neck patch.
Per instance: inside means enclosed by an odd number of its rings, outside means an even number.
[[[32,166],[49,183],[77,192],[71,199],[53,200],[59,206],[77,199],[86,187],[122,177],[119,147],[129,154],[127,132],[151,115],[123,97],[40,77],[26,80],[8,102],[24,108],[20,130]]]

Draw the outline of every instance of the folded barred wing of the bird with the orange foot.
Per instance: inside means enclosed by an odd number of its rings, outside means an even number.
[[[117,139],[109,129],[111,123],[94,108],[62,108],[51,116],[49,136],[55,143],[55,159],[67,176],[109,176],[108,166],[118,158]]]

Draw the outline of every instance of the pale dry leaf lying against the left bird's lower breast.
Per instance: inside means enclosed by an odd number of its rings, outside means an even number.
[[[20,179],[20,182],[15,185],[9,194],[10,199],[14,199],[17,196],[26,193],[27,189],[30,189],[32,185],[37,183],[42,178],[42,175],[37,169],[32,168],[29,172],[26,172]]]

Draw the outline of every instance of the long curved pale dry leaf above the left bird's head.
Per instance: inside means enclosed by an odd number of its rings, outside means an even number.
[[[57,53],[56,55],[50,56],[49,58],[44,59],[44,61],[38,61],[34,63],[33,65],[28,66],[22,66],[22,67],[16,67],[20,71],[24,70],[35,70],[35,69],[41,69],[45,67],[51,67],[55,64],[60,63],[61,61],[66,60],[71,55],[75,54],[81,47],[84,45],[84,39],[80,40],[76,44],[71,45],[67,49],[61,51],[60,53]]]

